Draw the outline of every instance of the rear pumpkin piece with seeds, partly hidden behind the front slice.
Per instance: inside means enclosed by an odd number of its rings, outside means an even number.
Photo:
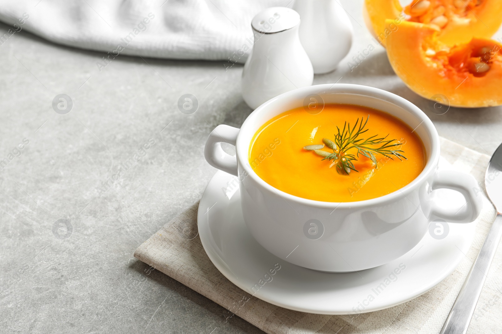
[[[403,8],[398,0],[365,0],[363,15],[369,31],[384,46],[385,20],[433,25],[438,40],[453,46],[472,38],[491,38],[502,23],[502,0],[413,0]]]

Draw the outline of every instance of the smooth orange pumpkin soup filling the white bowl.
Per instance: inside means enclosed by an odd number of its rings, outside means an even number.
[[[389,153],[393,151],[396,154]],[[413,181],[426,163],[422,141],[401,120],[376,109],[342,104],[326,105],[316,115],[297,108],[274,117],[255,134],[248,159],[273,187],[326,202],[389,194]]]

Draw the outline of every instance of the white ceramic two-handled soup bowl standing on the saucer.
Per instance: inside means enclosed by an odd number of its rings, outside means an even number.
[[[266,183],[248,160],[255,133],[274,116],[302,106],[307,106],[305,112],[312,113],[309,102],[322,101],[370,107],[401,119],[415,129],[424,143],[424,170],[395,192],[357,202],[305,199]],[[235,145],[236,156],[225,153],[221,142]],[[219,125],[209,135],[204,154],[210,165],[238,177],[244,221],[263,247],[302,267],[346,272],[376,267],[404,255],[424,237],[435,219],[467,223],[477,218],[482,202],[474,191],[475,179],[457,171],[438,170],[439,151],[436,128],[411,102],[376,88],[325,84],[299,88],[269,100],[250,114],[240,129]],[[431,196],[439,188],[460,192],[467,204],[461,210],[461,203],[440,206]]]

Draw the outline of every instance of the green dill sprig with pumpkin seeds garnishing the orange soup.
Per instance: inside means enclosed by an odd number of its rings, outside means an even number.
[[[401,143],[397,142],[396,139],[387,139],[389,135],[380,138],[379,135],[373,135],[366,139],[359,138],[360,135],[368,131],[368,129],[365,129],[368,119],[369,115],[366,117],[365,121],[364,117],[361,117],[360,122],[359,118],[357,118],[353,127],[350,127],[350,123],[345,122],[342,130],[340,130],[337,126],[336,129],[338,133],[335,134],[334,142],[326,138],[323,139],[323,142],[326,146],[333,150],[333,153],[318,149],[315,150],[315,153],[323,156],[324,158],[322,160],[334,160],[334,163],[336,164],[336,171],[340,174],[349,174],[351,170],[358,172],[352,161],[357,160],[359,158],[359,154],[370,159],[375,165],[375,168],[378,167],[375,154],[382,154],[392,160],[394,160],[393,156],[397,157],[399,160],[406,159],[406,157],[402,154],[404,151],[398,149],[398,146],[401,145]],[[309,150],[311,146],[315,145],[309,145],[305,148]],[[347,153],[353,148],[357,149],[356,154]]]

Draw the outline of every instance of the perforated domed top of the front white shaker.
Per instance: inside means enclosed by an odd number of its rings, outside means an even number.
[[[279,33],[300,24],[300,15],[286,7],[271,7],[258,13],[251,21],[254,30],[264,34]]]

